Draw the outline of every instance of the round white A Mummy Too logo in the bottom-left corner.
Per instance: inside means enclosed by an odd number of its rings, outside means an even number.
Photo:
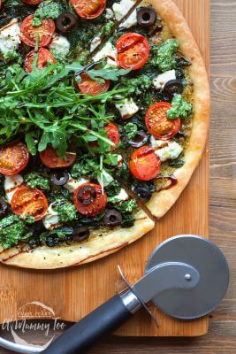
[[[2,324],[2,331],[12,335],[14,342],[23,345],[30,345],[33,348],[45,349],[56,337],[56,332],[65,329],[65,323],[57,318],[55,312],[49,306],[38,301],[24,304],[17,311],[17,320],[5,319]],[[32,344],[37,335],[41,337],[43,344]],[[30,333],[32,342],[26,340]],[[36,341],[37,342],[37,341]]]

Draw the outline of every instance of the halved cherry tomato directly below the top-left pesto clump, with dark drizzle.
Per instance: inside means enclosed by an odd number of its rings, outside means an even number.
[[[30,47],[35,46],[36,38],[39,36],[39,47],[47,47],[51,42],[55,32],[55,23],[53,19],[42,19],[41,26],[33,26],[34,15],[27,16],[20,26],[20,39]]]

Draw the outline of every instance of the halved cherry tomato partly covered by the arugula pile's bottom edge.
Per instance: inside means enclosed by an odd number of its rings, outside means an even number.
[[[57,150],[53,149],[51,145],[48,145],[45,150],[40,152],[40,158],[43,165],[46,165],[49,168],[60,168],[68,167],[72,165],[76,158],[76,153],[74,150],[68,151],[65,153],[65,159],[59,158],[57,155]]]

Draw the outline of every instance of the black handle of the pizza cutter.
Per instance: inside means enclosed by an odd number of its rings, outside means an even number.
[[[80,322],[70,327],[63,335],[51,342],[43,354],[82,354],[98,340],[132,317],[119,295],[113,296]]]

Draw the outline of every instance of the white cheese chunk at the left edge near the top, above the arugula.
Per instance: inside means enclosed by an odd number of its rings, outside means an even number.
[[[11,19],[11,22],[0,29],[0,51],[3,54],[18,50],[20,29],[18,19]]]

